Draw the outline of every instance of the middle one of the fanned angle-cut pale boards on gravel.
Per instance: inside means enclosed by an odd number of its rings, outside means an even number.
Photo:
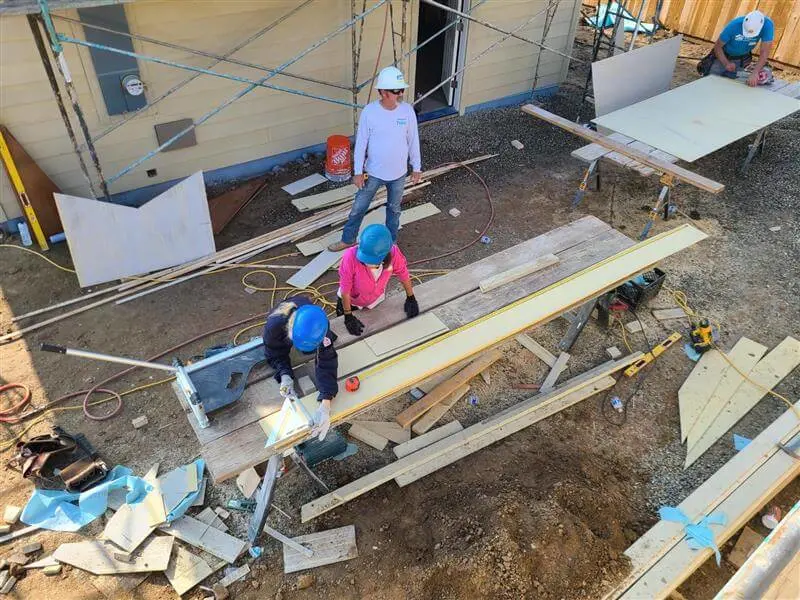
[[[689,429],[689,434],[686,436],[687,454],[691,453],[692,448],[694,448],[698,440],[702,438],[703,434],[722,411],[722,408],[744,381],[744,376],[741,375],[740,371],[745,374],[750,373],[753,367],[756,366],[756,363],[761,360],[761,357],[766,353],[766,346],[762,346],[758,342],[754,342],[746,337],[739,338],[728,354],[728,359],[736,368],[728,365],[728,368],[722,373],[719,383],[714,388],[714,392],[711,394],[708,402],[706,402],[703,410],[700,411],[697,419],[695,419],[694,425]],[[725,362],[728,363],[728,361]]]

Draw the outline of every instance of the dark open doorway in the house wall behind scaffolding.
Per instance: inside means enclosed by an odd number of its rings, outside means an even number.
[[[462,10],[463,0],[441,0],[450,8]],[[444,33],[417,51],[417,67],[414,77],[415,100],[440,86],[453,76],[462,62],[464,46],[464,22],[457,15],[430,4],[420,2],[417,44],[451,25]],[[458,112],[461,76],[453,77],[448,83],[438,87],[430,96],[416,105],[420,120],[429,120]]]

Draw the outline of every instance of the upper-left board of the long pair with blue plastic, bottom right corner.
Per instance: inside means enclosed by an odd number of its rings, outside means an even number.
[[[789,443],[800,434],[800,421],[793,412],[796,410],[800,410],[800,402],[795,403],[793,409],[784,412],[744,449],[734,454],[716,473],[687,496],[677,508],[681,509],[693,523],[714,511],[721,510],[721,504],[734,490],[748,487],[749,478],[754,473],[776,454],[783,454],[778,449],[777,443]],[[784,454],[784,456],[789,458],[788,455]],[[795,462],[800,465],[800,461]],[[748,484],[745,485],[745,482]],[[684,527],[679,523],[661,520],[651,527],[625,551],[625,555],[631,561],[632,570],[611,596],[617,598],[626,590],[630,590],[684,537]],[[718,545],[721,545],[722,541],[718,539],[718,542]],[[631,598],[635,597],[631,596]],[[639,597],[650,597],[650,595],[642,593]]]

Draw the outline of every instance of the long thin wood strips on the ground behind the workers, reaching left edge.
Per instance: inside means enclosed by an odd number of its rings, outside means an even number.
[[[434,169],[433,171],[426,172],[426,180],[436,175],[441,175],[447,171],[457,169],[461,164],[474,163],[481,160],[486,160],[494,155],[484,155],[465,161],[464,163],[453,163],[447,167]],[[377,208],[385,203],[385,198],[378,198],[371,204],[370,208]],[[240,244],[236,244],[224,250],[220,250],[209,256],[190,261],[183,265],[170,267],[161,271],[151,273],[148,278],[138,278],[134,281],[127,281],[118,285],[112,285],[102,290],[97,290],[85,294],[79,298],[60,302],[52,306],[38,309],[24,315],[15,317],[15,321],[30,318],[36,315],[49,312],[51,310],[65,308],[67,306],[83,303],[87,300],[92,300],[101,297],[99,300],[94,300],[87,304],[82,304],[78,308],[74,308],[64,312],[56,317],[39,321],[33,325],[23,327],[16,331],[12,331],[6,335],[0,336],[0,343],[16,340],[24,336],[26,333],[36,331],[52,323],[56,323],[68,317],[72,317],[98,306],[116,302],[118,304],[128,302],[135,298],[141,298],[147,294],[157,292],[167,287],[207,275],[218,269],[226,266],[234,265],[237,263],[246,262],[254,256],[265,252],[271,248],[280,246],[288,242],[295,242],[303,239],[304,237],[331,225],[343,223],[347,220],[347,215],[350,212],[349,206],[337,206],[320,211],[311,217],[307,217],[296,223],[292,223],[285,227],[281,227],[269,233],[257,236]]]

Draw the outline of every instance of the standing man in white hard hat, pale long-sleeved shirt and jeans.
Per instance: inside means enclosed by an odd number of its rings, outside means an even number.
[[[341,241],[328,247],[332,252],[355,245],[361,221],[381,187],[387,192],[386,227],[396,241],[409,162],[411,183],[418,183],[422,177],[417,116],[413,107],[402,101],[408,88],[403,73],[396,67],[386,67],[375,87],[380,98],[367,104],[358,119],[353,158],[353,183],[358,192]]]

